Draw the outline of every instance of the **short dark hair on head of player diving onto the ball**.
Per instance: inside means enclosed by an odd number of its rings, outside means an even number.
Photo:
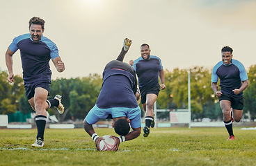
[[[117,133],[119,136],[126,136],[127,133],[129,133],[130,131],[129,122],[124,118],[116,120],[114,124],[114,129],[115,133]]]

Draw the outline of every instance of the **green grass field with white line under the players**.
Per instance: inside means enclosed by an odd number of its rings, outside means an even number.
[[[114,152],[96,151],[83,129],[46,129],[42,149],[31,147],[36,129],[0,129],[0,165],[256,165],[256,131],[234,127],[234,134],[227,141],[225,127],[151,129]]]

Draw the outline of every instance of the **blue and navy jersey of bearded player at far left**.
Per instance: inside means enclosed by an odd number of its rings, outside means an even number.
[[[37,80],[51,80],[49,60],[58,57],[58,48],[54,42],[42,36],[40,42],[35,43],[29,33],[13,39],[9,46],[14,53],[19,49],[22,59],[24,82]]]

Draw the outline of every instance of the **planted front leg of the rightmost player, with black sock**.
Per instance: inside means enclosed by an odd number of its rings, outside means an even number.
[[[228,100],[221,100],[220,105],[221,105],[221,109],[223,111],[223,122],[227,129],[227,132],[230,134],[230,136],[234,136],[232,120],[230,118],[231,102]]]

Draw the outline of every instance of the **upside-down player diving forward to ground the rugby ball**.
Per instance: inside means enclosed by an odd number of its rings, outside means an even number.
[[[102,90],[93,109],[83,120],[84,129],[93,138],[97,150],[99,138],[93,124],[100,118],[113,118],[113,128],[119,137],[111,136],[115,140],[113,151],[117,151],[120,142],[132,140],[141,134],[141,109],[137,100],[137,80],[134,69],[127,63],[122,62],[129,50],[131,40],[125,39],[124,46],[116,60],[106,64],[103,72]],[[130,131],[131,124],[132,131]]]

